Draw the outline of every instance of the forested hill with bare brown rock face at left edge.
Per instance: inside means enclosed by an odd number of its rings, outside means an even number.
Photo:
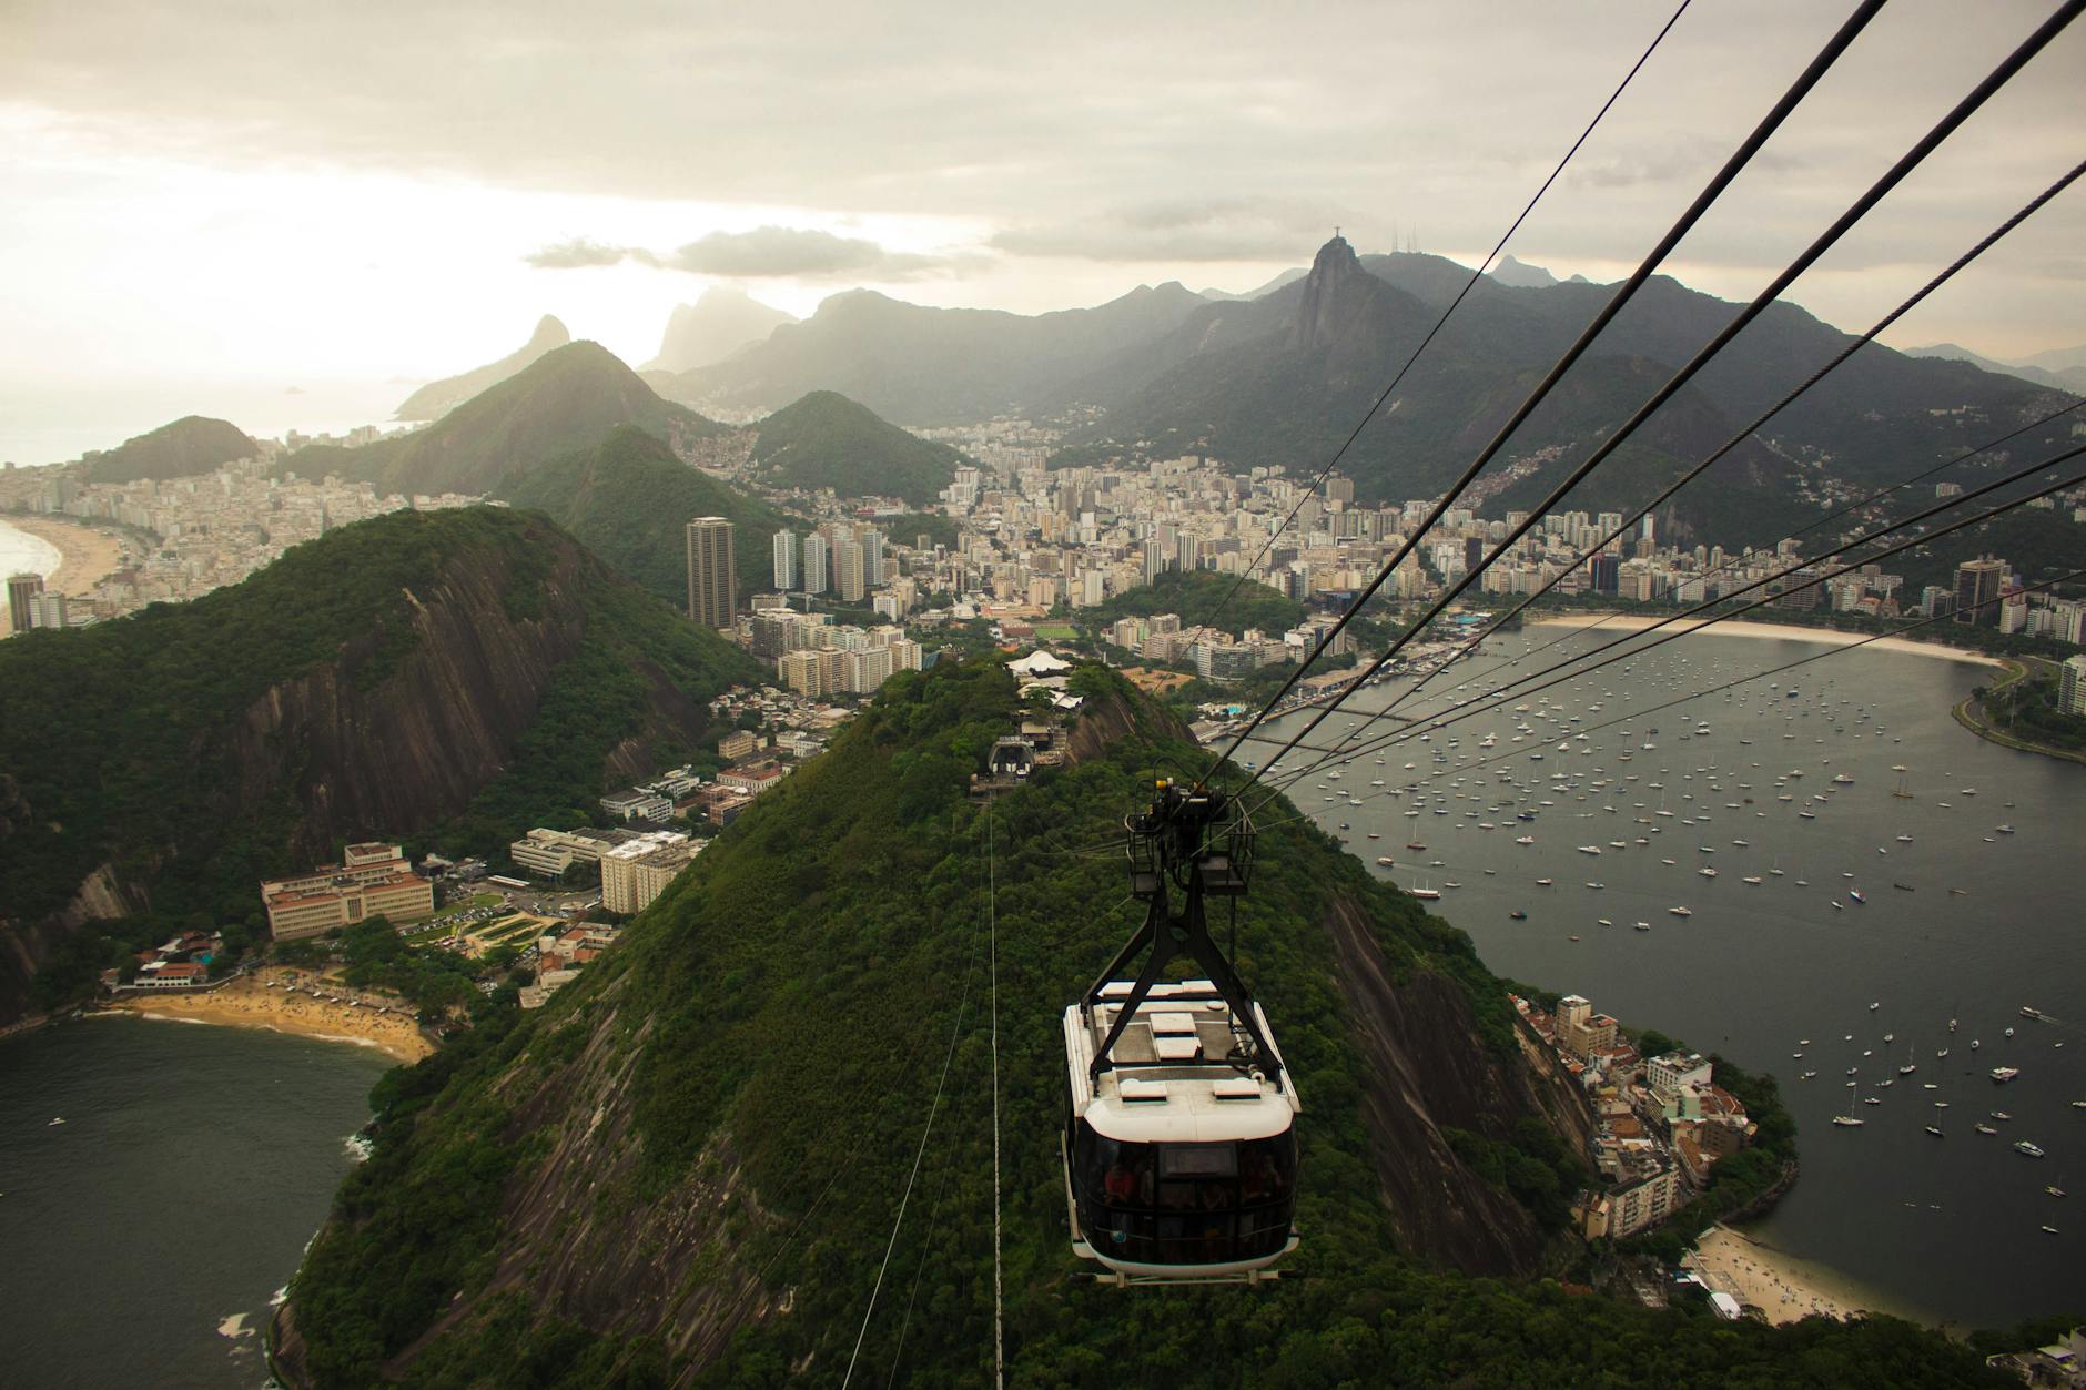
[[[0,1023],[90,918],[246,920],[344,839],[492,849],[672,766],[753,674],[542,518],[396,511],[0,643]]]

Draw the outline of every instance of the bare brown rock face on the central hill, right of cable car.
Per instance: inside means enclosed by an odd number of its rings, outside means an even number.
[[[1514,1121],[1544,1115],[1583,1142],[1585,1102],[1521,1058],[1473,1048],[1477,1023],[1462,987],[1429,970],[1400,979],[1352,900],[1333,900],[1325,929],[1368,1073],[1362,1115],[1400,1242],[1466,1273],[1529,1273],[1544,1233],[1456,1156],[1444,1129],[1504,1137]]]

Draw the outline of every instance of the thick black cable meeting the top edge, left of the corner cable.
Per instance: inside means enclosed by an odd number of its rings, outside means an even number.
[[[2086,0],[2073,0],[2073,2],[2086,2]],[[1350,622],[1354,622],[1354,618],[1373,597],[1377,597],[1377,591],[1383,589],[1383,582],[1391,576],[1393,570],[1398,570],[1404,557],[1412,553],[1412,549],[1421,543],[1421,536],[1433,530],[1435,522],[1441,520],[1441,516],[1450,509],[1456,497],[1460,497],[1462,490],[1471,486],[1477,474],[1483,472],[1485,463],[1491,461],[1491,457],[1506,445],[1506,440],[1514,434],[1514,430],[1519,430],[1521,424],[1535,411],[1535,407],[1542,405],[1544,397],[1548,397],[1550,390],[1564,378],[1564,374],[1571,372],[1573,363],[1577,363],[1579,357],[1585,355],[1585,351],[1594,344],[1594,338],[1598,338],[1600,332],[1615,319],[1615,315],[1619,315],[1623,307],[1631,298],[1635,298],[1638,290],[1644,288],[1644,282],[1652,278],[1652,273],[1658,269],[1660,263],[1665,263],[1665,259],[1673,253],[1673,248],[1681,242],[1681,238],[1688,236],[1690,230],[1694,230],[1694,225],[1708,213],[1708,209],[1717,202],[1717,198],[1721,198],[1723,192],[1731,186],[1731,182],[1738,179],[1738,175],[1746,169],[1746,165],[1752,163],[1752,157],[1761,152],[1761,146],[1767,144],[1769,136],[1773,136],[1784,121],[1788,121],[1790,113],[1796,111],[1796,106],[1804,100],[1804,96],[1811,94],[1813,88],[1817,88],[1817,83],[1825,77],[1832,65],[1840,61],[1840,54],[1848,50],[1848,46],[1861,35],[1863,29],[1869,27],[1869,21],[1873,21],[1882,13],[1882,8],[1884,0],[1863,0],[1854,8],[1854,13],[1846,19],[1846,23],[1842,23],[1840,29],[1825,42],[1819,54],[1811,58],[1809,67],[1804,67],[1804,71],[1796,77],[1790,90],[1781,94],[1781,98],[1761,119],[1761,123],[1752,127],[1752,134],[1746,136],[1746,140],[1738,146],[1738,150],[1733,150],[1731,157],[1723,163],[1723,167],[1711,177],[1708,186],[1702,188],[1700,194],[1696,194],[1696,200],[1688,207],[1685,213],[1681,213],[1679,221],[1675,221],[1667,230],[1667,234],[1658,240],[1658,244],[1652,246],[1652,250],[1644,257],[1644,261],[1629,275],[1629,280],[1625,280],[1615,290],[1615,294],[1608,296],[1608,303],[1600,309],[1600,313],[1594,315],[1594,321],[1579,332],[1579,338],[1569,349],[1564,349],[1564,355],[1558,357],[1558,361],[1550,367],[1550,372],[1544,374],[1544,380],[1535,384],[1535,390],[1531,390],[1529,397],[1514,409],[1514,413],[1506,420],[1500,432],[1494,434],[1491,442],[1487,442],[1479,451],[1479,455],[1471,459],[1471,463],[1462,470],[1462,474],[1458,474],[1454,484],[1450,484],[1448,493],[1444,493],[1441,499],[1427,513],[1427,520],[1412,532],[1412,538],[1408,538],[1404,545],[1398,547],[1398,553],[1391,555],[1391,559],[1383,566],[1377,578],[1373,578],[1368,586],[1354,597],[1354,601],[1348,605],[1348,612],[1339,616],[1339,622],[1333,624],[1333,628],[1325,634],[1318,647],[1310,655],[1306,655],[1304,662],[1300,662],[1293,672],[1289,672],[1289,678],[1283,682],[1283,689],[1279,689],[1275,697],[1268,699],[1268,703],[1239,733],[1239,737],[1233,739],[1231,747],[1224,749],[1224,753],[1212,764],[1210,768],[1212,772],[1239,751],[1245,739],[1252,737],[1252,733],[1260,728],[1260,724],[1268,718],[1268,710],[1279,705],[1283,697],[1289,695],[1291,689],[1295,689],[1297,680],[1304,678],[1304,672],[1308,672],[1312,664],[1318,660],[1318,653],[1325,651],[1329,645],[1333,645],[1333,639],[1339,637]],[[1210,774],[1206,772],[1202,781],[1208,781],[1208,776]],[[1252,785],[1252,781],[1247,781],[1247,785]]]

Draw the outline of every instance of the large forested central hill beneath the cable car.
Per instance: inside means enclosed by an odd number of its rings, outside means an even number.
[[[2005,1384],[1888,1317],[1775,1329],[1473,1277],[1539,1267],[1585,1102],[1462,933],[1289,808],[1237,941],[1306,1098],[1304,1277],[1083,1277],[1060,1014],[1133,922],[1101,906],[1120,858],[1081,849],[1199,756],[1120,680],[1074,682],[1070,766],[987,816],[964,781],[1016,703],[1003,666],[893,678],[547,1008],[392,1073],[277,1317],[282,1373],[983,1384],[997,1058],[1010,1384]]]

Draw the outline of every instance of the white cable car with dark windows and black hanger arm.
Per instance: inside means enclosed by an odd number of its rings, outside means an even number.
[[[1160,781],[1124,829],[1145,920],[1064,1010],[1072,1252],[1116,1286],[1275,1279],[1268,1265],[1297,1246],[1304,1106],[1204,908],[1245,893],[1254,826],[1214,787]],[[1179,956],[1202,979],[1162,979]]]

